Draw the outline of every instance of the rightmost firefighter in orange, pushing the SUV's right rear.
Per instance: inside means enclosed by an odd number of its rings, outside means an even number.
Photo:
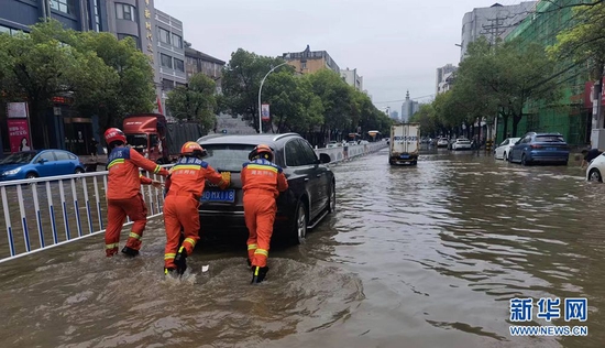
[[[249,154],[251,162],[242,168],[244,218],[248,227],[248,258],[252,267],[252,283],[262,282],[267,272],[268,248],[277,213],[276,199],[288,189],[282,168],[273,163],[273,151],[261,144]]]

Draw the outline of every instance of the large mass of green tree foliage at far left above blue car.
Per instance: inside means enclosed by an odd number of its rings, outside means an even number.
[[[121,126],[129,112],[153,109],[153,69],[132,41],[109,33],[75,32],[58,21],[29,34],[0,34],[0,87],[10,101],[28,101],[32,124],[45,124],[53,97],[74,97],[82,115],[101,127]],[[46,127],[34,127],[35,148],[48,148]]]

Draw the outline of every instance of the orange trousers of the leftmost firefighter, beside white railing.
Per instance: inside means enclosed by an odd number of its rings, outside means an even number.
[[[141,238],[143,238],[143,231],[147,224],[147,206],[141,193],[130,198],[107,200],[105,244],[108,257],[118,253],[120,232],[122,231],[127,216],[133,221],[127,247],[139,250],[141,249]]]

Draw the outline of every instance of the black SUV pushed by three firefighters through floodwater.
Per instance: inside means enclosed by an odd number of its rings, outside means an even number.
[[[197,141],[208,155],[204,159],[218,172],[231,173],[231,185],[221,191],[207,182],[199,206],[201,236],[245,232],[240,173],[248,155],[258,144],[274,150],[275,164],[284,168],[288,189],[277,198],[274,239],[302,243],[314,228],[336,207],[334,174],[297,133],[223,135],[211,134]]]

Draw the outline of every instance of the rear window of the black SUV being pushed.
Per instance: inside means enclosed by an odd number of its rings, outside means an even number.
[[[208,152],[204,161],[208,162],[217,171],[241,172],[242,165],[248,162],[248,154],[254,145],[245,144],[201,144]]]

